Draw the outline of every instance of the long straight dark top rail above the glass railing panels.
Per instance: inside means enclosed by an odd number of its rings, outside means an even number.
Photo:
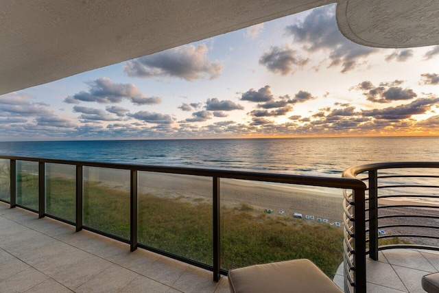
[[[333,187],[340,189],[366,189],[366,184],[355,178],[334,178],[320,176],[300,176],[292,174],[276,174],[276,173],[259,173],[259,172],[241,172],[220,169],[202,169],[189,167],[162,167],[154,165],[135,165],[122,163],[98,163],[91,161],[70,161],[60,159],[43,159],[31,158],[23,156],[3,156],[0,159],[10,159],[19,161],[34,161],[43,163],[55,163],[64,165],[82,165],[86,167],[103,167],[112,169],[127,169],[145,172],[159,172],[168,174],[184,174],[194,176],[219,177],[241,180],[255,180],[273,183],[289,183],[297,185],[309,185],[319,187]]]

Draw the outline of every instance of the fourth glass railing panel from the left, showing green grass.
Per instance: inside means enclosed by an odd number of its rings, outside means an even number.
[[[130,239],[130,170],[84,167],[83,224]]]

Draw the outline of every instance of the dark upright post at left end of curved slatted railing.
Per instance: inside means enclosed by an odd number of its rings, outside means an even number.
[[[378,172],[369,171],[369,257],[378,260]]]

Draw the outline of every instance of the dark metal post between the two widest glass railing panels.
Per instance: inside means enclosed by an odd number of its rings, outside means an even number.
[[[219,178],[213,177],[213,281],[217,282],[221,278],[221,227],[220,227],[220,198],[219,198]]]

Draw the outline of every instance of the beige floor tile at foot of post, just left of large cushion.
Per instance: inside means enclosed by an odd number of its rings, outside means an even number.
[[[218,283],[213,281],[212,272],[189,266],[172,288],[186,293],[215,292]]]

